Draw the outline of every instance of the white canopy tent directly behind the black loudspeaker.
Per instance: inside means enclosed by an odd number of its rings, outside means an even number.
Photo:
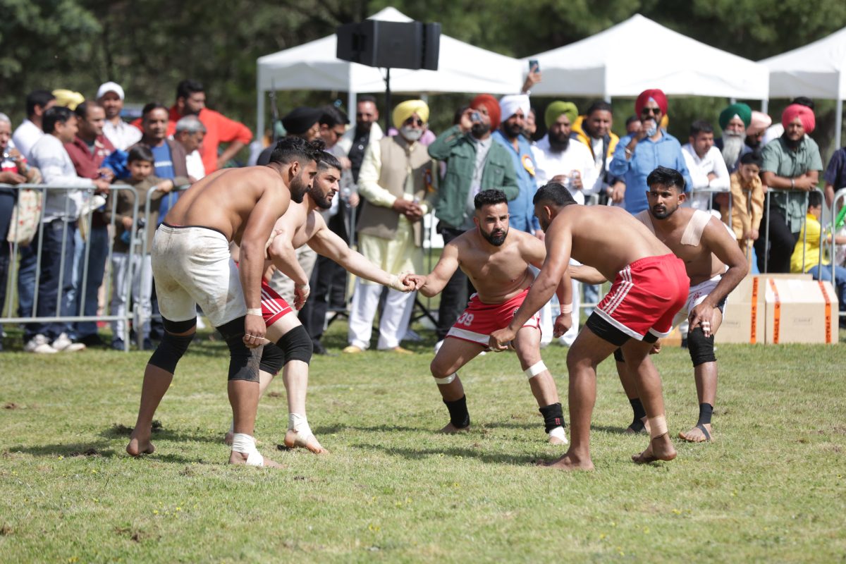
[[[413,21],[395,8],[384,8],[370,19]],[[258,58],[255,90],[259,136],[264,131],[265,92],[269,90],[345,91],[350,108],[354,108],[357,93],[385,90],[381,68],[342,61],[336,57],[336,47],[336,37],[327,36]],[[524,64],[442,34],[437,71],[392,68],[391,91],[516,94],[523,84]]]

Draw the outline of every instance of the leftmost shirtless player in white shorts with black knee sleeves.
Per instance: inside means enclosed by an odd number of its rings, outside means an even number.
[[[320,143],[283,139],[266,166],[228,168],[195,183],[158,227],[151,262],[166,332],[144,372],[129,454],[154,451],[153,414],[194,337],[199,304],[229,348],[228,395],[235,431],[229,463],[277,466],[255,448],[258,356],[250,349],[263,342],[266,332],[261,276],[267,240],[290,201],[303,200],[320,155]],[[240,245],[240,269],[230,258],[230,241]]]

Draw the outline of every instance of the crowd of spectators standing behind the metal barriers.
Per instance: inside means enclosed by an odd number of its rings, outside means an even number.
[[[664,166],[684,177],[692,192],[687,205],[722,218],[753,271],[807,271],[820,278],[833,269],[838,282],[846,284],[842,265],[817,265],[824,235],[817,213],[822,201],[813,190],[824,167],[809,135],[816,126],[813,101],[795,99],[775,124],[766,113],[733,103],[717,116],[691,123],[682,145],[667,133],[671,107],[662,90],[645,90],[637,97],[634,115],[625,119],[618,137],[613,107],[606,101],[594,101],[584,112],[564,100],[533,107],[530,86],[539,79],[532,72],[520,93],[499,99],[475,96],[440,134],[428,128],[425,101],[382,108],[393,124],[383,131],[376,99],[360,96],[352,124],[335,105],[297,107],[277,124],[277,135],[322,139],[338,158],[342,189],[323,211],[327,223],[387,271],[421,271],[422,219],[430,212],[445,243],[473,228],[473,200],[482,189],[502,190],[509,200],[510,227],[542,238],[531,204],[541,185],[555,180],[579,203],[620,205],[634,214],[647,206],[646,177]],[[18,310],[7,315],[36,318],[25,323],[26,351],[123,349],[131,338],[124,324],[113,321],[111,341],[104,342],[94,319],[98,310],[124,316],[130,307],[141,321],[134,330],[142,346],[150,348],[159,328],[155,281],[143,249],[150,248],[154,228],[179,198],[179,189],[223,167],[252,138],[244,124],[206,107],[204,88],[195,80],[179,83],[171,107],[152,101],[133,123],[122,117],[124,96],[114,82],[101,85],[85,101],[73,92],[35,90],[26,98],[27,118],[17,128],[0,113],[0,184],[57,187],[39,202],[35,233],[21,240],[11,222],[16,207],[22,208],[16,202],[23,192],[0,186],[0,236],[8,239],[0,245],[0,303],[7,301],[7,281],[17,261],[11,283],[17,287]],[[720,133],[716,139],[714,121]],[[261,165],[272,144],[252,148]],[[827,206],[846,184],[844,178],[846,149],[841,149],[823,176]],[[143,215],[146,205],[149,216]],[[804,262],[797,260],[800,247]],[[348,311],[344,353],[369,348],[380,308],[377,347],[408,353],[400,343],[415,336],[409,330],[413,293],[382,295],[382,287],[358,281],[350,296],[347,273],[332,260],[317,257],[307,246],[297,250],[297,258],[313,289],[299,315],[316,353],[327,353],[321,343],[327,318]],[[294,282],[281,273],[274,274],[272,286],[293,299]],[[846,286],[840,286],[843,304]],[[106,293],[103,287],[113,289]],[[444,288],[439,342],[473,291],[460,271]],[[574,282],[574,298],[582,294],[593,303],[597,288]],[[51,320],[76,316],[86,319]],[[548,343],[552,316],[544,315],[544,322]],[[574,326],[562,344],[571,343],[576,331]]]

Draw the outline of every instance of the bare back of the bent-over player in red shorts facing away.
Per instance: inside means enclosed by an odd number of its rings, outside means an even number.
[[[558,233],[572,241],[572,258],[593,266],[608,280],[635,260],[672,252],[628,211],[610,205],[564,207],[552,221],[547,237]]]

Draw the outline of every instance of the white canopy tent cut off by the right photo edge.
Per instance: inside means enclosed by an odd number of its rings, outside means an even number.
[[[834,140],[839,147],[846,93],[846,28],[761,63],[770,71],[770,96],[810,96],[837,101]]]

